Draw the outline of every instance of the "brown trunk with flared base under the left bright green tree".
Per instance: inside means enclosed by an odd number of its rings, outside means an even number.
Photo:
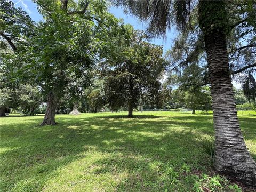
[[[57,107],[57,97],[52,92],[48,95],[47,108],[44,116],[44,121],[41,125],[56,125],[55,123],[55,110]]]

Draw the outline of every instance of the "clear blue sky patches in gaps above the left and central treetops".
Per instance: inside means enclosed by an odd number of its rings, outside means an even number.
[[[14,0],[13,2],[15,6],[21,6],[22,9],[25,10],[34,21],[37,22],[42,20],[41,15],[37,12],[36,4],[34,4],[31,0]],[[133,25],[135,29],[146,29],[146,26],[143,25],[144,23],[140,22],[137,18],[133,17],[132,15],[124,14],[121,7],[111,7],[110,12],[113,13],[117,18],[123,18],[124,23]],[[151,43],[163,45],[164,51],[166,51],[171,48],[174,37],[175,30],[168,30],[166,38],[155,38],[152,39]]]

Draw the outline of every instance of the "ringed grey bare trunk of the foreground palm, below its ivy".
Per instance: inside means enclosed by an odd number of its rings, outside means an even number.
[[[213,4],[207,1],[202,2],[206,3],[204,5]],[[219,2],[221,1],[215,2],[215,4]],[[222,6],[220,7],[222,8]],[[222,9],[225,9],[225,6]],[[218,10],[214,10],[218,13]],[[213,14],[205,9],[204,13],[209,14],[204,15],[206,18],[211,18],[211,14]],[[229,75],[226,35],[217,28],[211,33],[204,33],[204,40],[215,129],[214,168],[220,173],[247,185],[256,186],[256,163],[246,148],[237,118],[233,87]]]

